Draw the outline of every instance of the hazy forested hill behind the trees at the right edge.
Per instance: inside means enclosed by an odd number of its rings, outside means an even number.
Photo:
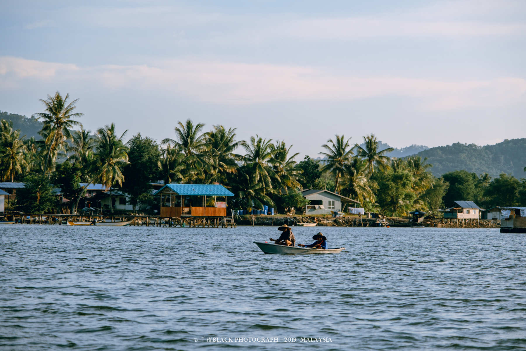
[[[478,146],[461,144],[432,147],[421,151],[418,156],[427,157],[433,167],[431,171],[440,175],[466,169],[478,175],[488,173],[498,177],[501,173],[511,173],[516,178],[526,177],[526,138],[506,139],[495,145]]]

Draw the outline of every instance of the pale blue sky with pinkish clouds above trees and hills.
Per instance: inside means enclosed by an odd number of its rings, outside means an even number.
[[[190,118],[317,157],[526,137],[526,1],[0,2],[0,111],[78,98],[92,131]],[[298,159],[299,161],[299,159]]]

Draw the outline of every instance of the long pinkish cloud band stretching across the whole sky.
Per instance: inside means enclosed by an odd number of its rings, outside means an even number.
[[[342,76],[316,67],[207,62],[194,59],[150,65],[79,67],[0,57],[0,89],[43,82],[82,88],[158,91],[217,104],[278,101],[351,101],[379,96],[419,99],[422,106],[448,109],[503,104],[524,98],[526,80],[437,81],[393,76]]]

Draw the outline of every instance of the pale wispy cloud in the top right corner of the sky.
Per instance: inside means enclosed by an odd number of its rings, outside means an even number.
[[[526,3],[509,0],[450,1],[406,12],[377,13],[374,16],[291,20],[278,24],[271,32],[298,38],[335,40],[523,36],[526,34],[526,23],[519,14],[526,14]]]

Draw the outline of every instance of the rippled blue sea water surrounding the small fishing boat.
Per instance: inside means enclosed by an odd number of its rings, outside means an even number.
[[[526,349],[525,235],[319,230],[2,225],[0,349]]]

